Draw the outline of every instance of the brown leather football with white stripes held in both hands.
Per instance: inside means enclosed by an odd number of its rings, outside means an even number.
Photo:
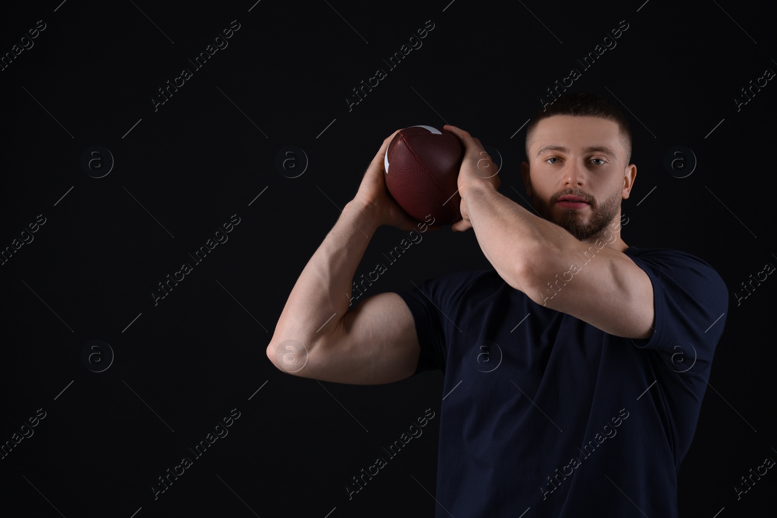
[[[446,130],[411,126],[400,130],[386,149],[384,178],[396,203],[417,221],[431,215],[435,224],[462,219],[458,169],[464,148]]]

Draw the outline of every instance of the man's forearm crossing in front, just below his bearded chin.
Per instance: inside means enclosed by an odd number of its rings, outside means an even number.
[[[491,186],[472,186],[464,196],[486,259],[503,280],[526,294],[539,270],[555,271],[552,263],[563,260],[562,251],[577,242],[565,229],[531,214]]]

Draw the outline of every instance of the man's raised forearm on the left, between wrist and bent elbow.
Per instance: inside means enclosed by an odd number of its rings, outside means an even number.
[[[349,202],[302,270],[280,314],[271,343],[294,339],[306,347],[332,332],[350,305],[351,283],[380,224],[374,211]]]

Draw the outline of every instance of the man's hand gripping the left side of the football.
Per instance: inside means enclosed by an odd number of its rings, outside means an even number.
[[[432,230],[440,230],[441,225],[439,224],[427,224],[410,217],[402,207],[399,207],[399,203],[396,203],[389,193],[389,189],[386,188],[383,158],[386,149],[389,148],[389,143],[399,131],[396,130],[383,141],[378,154],[375,155],[367,171],[364,172],[364,178],[361,180],[359,190],[352,202],[361,204],[365,210],[375,211],[380,224],[391,225],[407,231],[416,230],[418,224],[426,225]]]

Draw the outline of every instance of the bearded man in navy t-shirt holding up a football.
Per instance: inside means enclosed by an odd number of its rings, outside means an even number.
[[[444,129],[465,147],[452,228],[473,228],[493,269],[348,311],[369,236],[418,224],[385,190],[392,135],[294,285],[267,356],[349,384],[441,369],[437,516],[677,516],[728,292],[701,259],[622,240],[628,122],[588,94],[535,115],[521,173],[539,215],[497,192],[477,139]]]

